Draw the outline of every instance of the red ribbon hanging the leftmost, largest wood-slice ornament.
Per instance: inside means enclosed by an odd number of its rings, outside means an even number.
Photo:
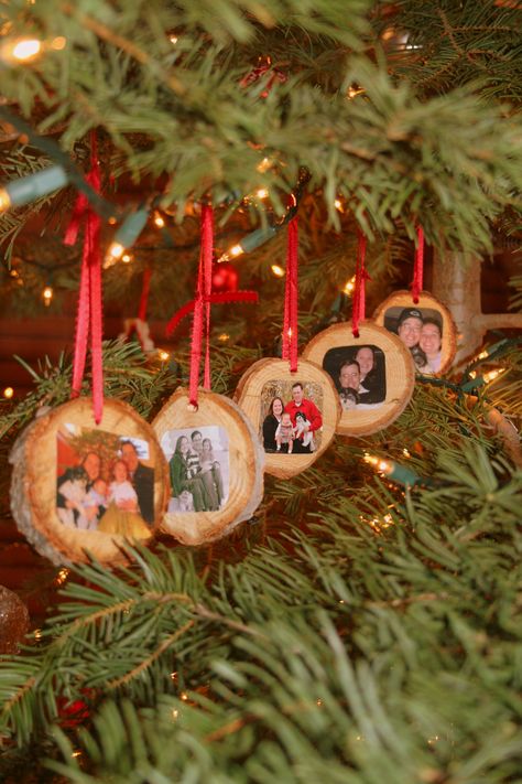
[[[86,180],[96,193],[100,192],[100,171],[95,132],[93,132],[90,137],[90,171]],[[90,207],[87,196],[85,196],[84,193],[80,193],[76,200],[73,216],[65,230],[64,245],[74,245],[76,243],[81,224],[85,224],[85,235],[81,255],[78,310],[76,315],[72,397],[78,397],[81,391],[87,357],[87,341],[90,331],[93,408],[95,421],[99,425],[104,412],[101,219]]]

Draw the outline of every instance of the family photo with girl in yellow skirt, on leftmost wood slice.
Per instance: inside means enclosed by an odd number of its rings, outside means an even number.
[[[149,443],[65,425],[57,433],[56,512],[68,528],[149,538],[154,523]]]

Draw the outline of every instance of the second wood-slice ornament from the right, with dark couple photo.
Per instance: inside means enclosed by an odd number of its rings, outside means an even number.
[[[396,335],[366,321],[354,337],[349,324],[319,332],[303,356],[320,365],[341,406],[336,432],[369,436],[387,427],[410,401],[415,380],[410,352]]]

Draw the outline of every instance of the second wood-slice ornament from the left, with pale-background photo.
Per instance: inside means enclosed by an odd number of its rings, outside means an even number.
[[[199,389],[197,402],[177,389],[152,422],[171,477],[162,529],[184,545],[219,539],[263,497],[264,455],[247,417],[224,395]]]

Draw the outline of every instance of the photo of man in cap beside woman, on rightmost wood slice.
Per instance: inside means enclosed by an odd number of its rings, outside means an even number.
[[[418,373],[438,373],[442,364],[443,319],[434,308],[389,308],[384,326],[394,332],[410,352]]]

